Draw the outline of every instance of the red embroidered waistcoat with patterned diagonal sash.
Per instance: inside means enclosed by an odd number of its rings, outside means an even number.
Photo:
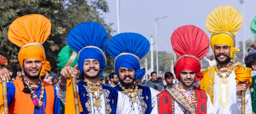
[[[195,113],[196,114],[207,114],[207,94],[204,90],[194,87],[195,90]],[[174,114],[175,112],[175,101],[180,104],[186,111],[193,114],[191,107],[185,101],[183,96],[176,89],[168,89],[160,92],[157,95],[157,111],[158,114]]]

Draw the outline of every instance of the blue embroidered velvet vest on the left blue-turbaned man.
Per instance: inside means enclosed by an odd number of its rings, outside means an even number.
[[[84,81],[80,81],[77,83],[78,85],[78,95],[80,97],[81,105],[83,107],[83,112],[80,114],[92,114],[92,106],[91,104],[91,95],[90,90],[87,87],[87,84]],[[118,99],[118,91],[113,89],[112,87],[102,85],[102,90],[105,98],[105,107],[106,114],[116,114],[117,111],[117,99]],[[89,94],[88,94],[89,93]],[[104,104],[101,104],[104,105]],[[110,108],[107,108],[110,107]]]

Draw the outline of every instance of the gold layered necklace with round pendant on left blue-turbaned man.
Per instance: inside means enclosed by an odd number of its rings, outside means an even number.
[[[96,108],[99,108],[100,105],[101,105],[101,102],[100,102],[99,98],[100,98],[100,96],[101,96],[101,94],[102,94],[101,81],[100,81],[99,84],[96,84],[96,85],[90,84],[90,83],[87,82],[86,80],[84,80],[84,82],[87,83],[87,86],[89,87],[89,89],[91,89],[93,98],[95,98],[95,101],[93,102],[93,105],[94,105]],[[98,86],[100,86],[100,91],[99,91],[99,95],[96,96],[96,95],[95,95],[95,91],[98,90]]]

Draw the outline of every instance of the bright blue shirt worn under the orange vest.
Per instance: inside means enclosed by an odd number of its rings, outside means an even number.
[[[57,92],[56,92],[56,89],[55,87],[54,88],[54,108],[53,108],[53,114],[60,114],[60,99],[57,97]],[[8,106],[13,102],[14,100],[14,97],[15,97],[15,86],[13,83],[11,82],[7,82],[7,98],[8,98]],[[40,96],[41,95],[41,84],[39,84],[37,86],[37,89],[34,90],[35,94],[37,96]],[[46,114],[44,108],[46,106],[46,92],[47,90],[45,89],[44,90],[44,98],[42,99],[42,102],[43,102],[43,105],[41,107],[35,107],[34,109],[34,114]],[[31,100],[33,100],[32,96],[31,96]]]

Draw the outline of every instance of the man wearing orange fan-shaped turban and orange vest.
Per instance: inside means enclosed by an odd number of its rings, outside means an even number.
[[[19,17],[9,27],[9,40],[21,47],[18,59],[24,71],[22,78],[7,83],[9,114],[60,114],[60,100],[55,88],[41,80],[51,68],[42,46],[50,30],[50,21],[39,14]],[[9,77],[5,75],[5,78]]]

